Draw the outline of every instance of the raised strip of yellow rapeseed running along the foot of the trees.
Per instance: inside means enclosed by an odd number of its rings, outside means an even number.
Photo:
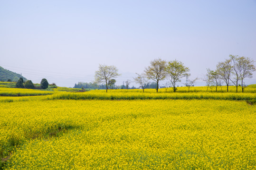
[[[85,93],[54,93],[48,99],[99,99],[99,100],[136,100],[136,99],[217,99],[217,100],[251,100],[256,93],[156,93],[154,89],[142,90],[91,90]]]

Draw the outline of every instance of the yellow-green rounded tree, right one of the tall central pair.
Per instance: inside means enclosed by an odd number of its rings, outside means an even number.
[[[180,78],[187,76],[190,69],[185,67],[181,61],[175,59],[168,62],[166,71],[173,86],[173,91],[176,92],[176,83],[181,81]]]

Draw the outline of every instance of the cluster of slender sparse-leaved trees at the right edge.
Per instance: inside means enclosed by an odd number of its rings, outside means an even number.
[[[242,92],[244,92],[244,79],[252,78],[252,73],[256,71],[254,66],[254,60],[248,57],[239,57],[235,55],[229,55],[229,59],[225,61],[218,62],[216,69],[207,69],[206,84],[217,87],[222,85],[224,82],[228,86],[234,84],[238,89],[238,82],[241,81]]]

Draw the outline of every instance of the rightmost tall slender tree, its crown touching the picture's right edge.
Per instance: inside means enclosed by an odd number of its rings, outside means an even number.
[[[245,78],[252,78],[252,72],[256,71],[256,68],[254,66],[254,60],[250,59],[248,57],[238,57],[237,58],[237,68],[238,68],[238,74],[242,81],[242,92],[244,92],[244,85],[243,80]]]

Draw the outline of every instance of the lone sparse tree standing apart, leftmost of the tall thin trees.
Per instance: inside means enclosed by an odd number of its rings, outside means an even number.
[[[115,66],[107,66],[107,65],[99,65],[99,70],[95,71],[95,83],[105,83],[106,84],[106,92],[108,89],[108,81],[111,78],[121,76],[121,74],[117,73],[118,69]]]

